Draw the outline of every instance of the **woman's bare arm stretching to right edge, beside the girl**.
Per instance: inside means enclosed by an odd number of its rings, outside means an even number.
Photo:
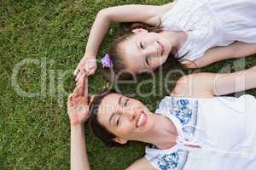
[[[256,88],[256,66],[234,73],[197,73],[177,81],[172,95],[191,98],[211,98]]]

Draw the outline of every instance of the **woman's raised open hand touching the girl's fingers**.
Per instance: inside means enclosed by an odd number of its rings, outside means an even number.
[[[79,79],[73,94],[68,96],[67,111],[72,126],[83,124],[89,117],[87,77],[84,74]]]

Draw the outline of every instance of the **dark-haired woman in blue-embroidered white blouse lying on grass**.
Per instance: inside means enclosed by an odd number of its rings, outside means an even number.
[[[155,114],[137,99],[108,92],[87,100],[84,75],[68,98],[71,167],[89,170],[84,122],[105,144],[150,144],[129,170],[255,170],[256,99],[216,97],[256,88],[256,66],[180,78]],[[90,103],[90,104],[88,104]]]

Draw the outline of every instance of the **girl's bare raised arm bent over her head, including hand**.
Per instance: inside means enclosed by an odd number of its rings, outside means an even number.
[[[84,57],[74,71],[74,75],[78,75],[79,71],[82,70],[87,72],[88,75],[94,74],[96,71],[96,54],[112,22],[143,22],[156,26],[160,22],[160,15],[171,6],[172,3],[163,6],[123,5],[102,9],[96,15],[96,20],[90,30]]]

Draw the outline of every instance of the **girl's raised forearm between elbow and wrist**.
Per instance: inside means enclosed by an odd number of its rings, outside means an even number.
[[[110,20],[108,14],[102,9],[97,15],[93,26],[90,30],[88,42],[86,44],[84,56],[96,57],[98,49],[100,48],[101,42],[108,32]]]

